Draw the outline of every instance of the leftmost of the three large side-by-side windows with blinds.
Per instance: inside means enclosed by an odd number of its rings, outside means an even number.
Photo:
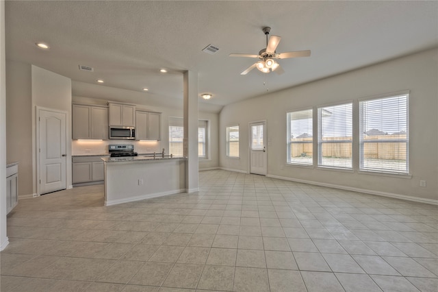
[[[313,110],[287,112],[287,163],[313,165]]]

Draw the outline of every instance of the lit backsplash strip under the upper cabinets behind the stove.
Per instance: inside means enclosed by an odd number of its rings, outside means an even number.
[[[72,156],[77,155],[90,155],[90,154],[108,154],[108,145],[110,144],[133,144],[134,151],[137,153],[153,153],[153,152],[161,152],[163,148],[166,148],[166,152],[168,151],[168,147],[162,147],[161,141],[125,141],[125,140],[110,140],[110,141],[72,141]]]

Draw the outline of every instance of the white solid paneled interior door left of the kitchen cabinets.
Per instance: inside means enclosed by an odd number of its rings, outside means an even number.
[[[66,189],[66,114],[38,110],[40,195]]]

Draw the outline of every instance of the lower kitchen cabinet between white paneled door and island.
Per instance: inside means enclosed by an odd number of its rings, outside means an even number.
[[[73,156],[73,186],[103,183],[105,171],[102,157],[107,156]]]

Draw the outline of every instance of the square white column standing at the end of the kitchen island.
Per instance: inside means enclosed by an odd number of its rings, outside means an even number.
[[[198,186],[198,73],[185,71],[184,83],[184,139],[185,188],[188,193],[199,191]]]

